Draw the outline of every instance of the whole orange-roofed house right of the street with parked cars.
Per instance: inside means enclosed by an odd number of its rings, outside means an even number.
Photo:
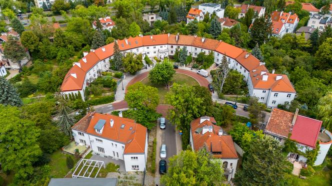
[[[213,158],[221,160],[227,181],[234,178],[238,156],[231,136],[215,125],[213,117],[203,116],[190,123],[190,146],[198,151],[206,148]]]

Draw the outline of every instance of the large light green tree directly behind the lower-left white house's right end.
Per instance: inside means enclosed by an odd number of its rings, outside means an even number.
[[[149,130],[155,126],[159,114],[155,109],[159,103],[158,89],[137,82],[128,87],[124,97],[128,103],[128,114]]]

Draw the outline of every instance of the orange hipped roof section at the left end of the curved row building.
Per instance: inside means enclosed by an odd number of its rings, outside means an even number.
[[[61,91],[81,90],[84,84],[85,72],[77,65],[72,66],[64,76]]]

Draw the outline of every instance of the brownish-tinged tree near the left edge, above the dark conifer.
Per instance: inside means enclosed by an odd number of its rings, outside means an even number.
[[[3,46],[3,54],[10,59],[13,63],[17,63],[19,69],[22,69],[20,60],[26,57],[26,53],[22,45],[16,37],[9,35],[7,42]]]

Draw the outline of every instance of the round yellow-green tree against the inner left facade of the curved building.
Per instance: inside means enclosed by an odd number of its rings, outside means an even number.
[[[124,72],[135,74],[143,67],[142,54],[135,55],[131,52],[122,57]]]

